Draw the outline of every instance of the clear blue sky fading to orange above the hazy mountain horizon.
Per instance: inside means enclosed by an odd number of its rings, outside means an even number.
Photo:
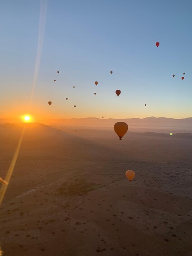
[[[0,118],[191,117],[191,14],[191,0],[1,1]]]

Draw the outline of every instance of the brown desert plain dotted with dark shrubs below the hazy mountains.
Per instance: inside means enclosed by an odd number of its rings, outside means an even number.
[[[2,178],[22,127],[0,125]],[[26,124],[0,227],[4,256],[192,256],[192,134]]]

